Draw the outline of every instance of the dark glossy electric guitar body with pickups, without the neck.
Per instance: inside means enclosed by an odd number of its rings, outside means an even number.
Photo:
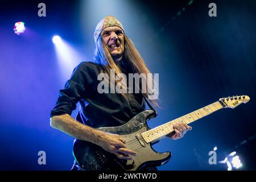
[[[110,154],[96,144],[76,139],[73,144],[73,156],[76,162],[86,171],[135,171],[147,166],[162,166],[170,160],[171,153],[156,152],[151,147],[152,143],[146,143],[141,137],[141,133],[149,130],[147,121],[152,117],[154,111],[144,110],[125,125],[98,128],[125,138],[127,148],[137,152],[137,156],[133,156],[133,161],[118,159],[116,155]]]

